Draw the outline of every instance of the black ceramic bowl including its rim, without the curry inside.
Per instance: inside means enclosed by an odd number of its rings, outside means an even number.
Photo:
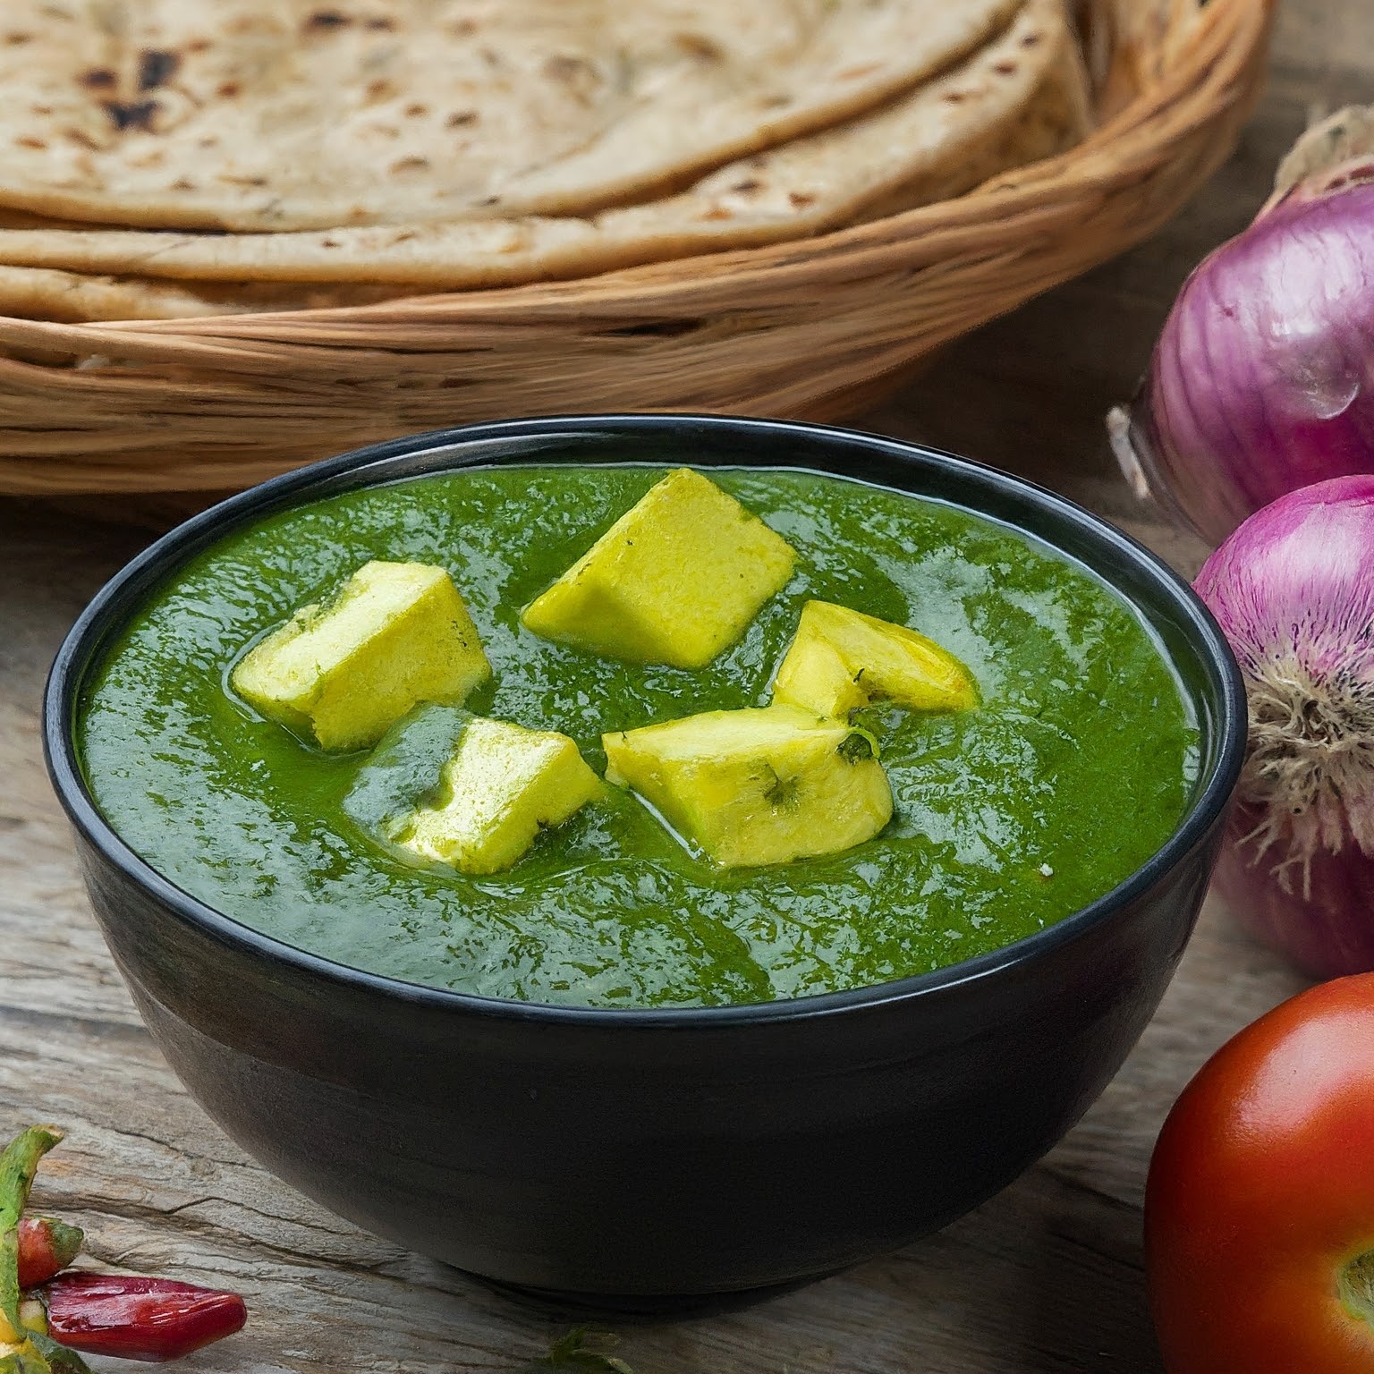
[[[995,954],[856,992],[606,1011],[357,973],[229,921],[96,809],[73,721],[146,594],[231,528],[416,473],[662,459],[841,471],[1007,521],[1156,628],[1202,730],[1176,834],[1116,890]],[[1000,473],[763,420],[573,418],[361,449],[225,502],[135,559],[58,654],[45,738],[96,916],[158,1044],[235,1140],[302,1193],[425,1254],[599,1305],[735,1293],[899,1246],[1014,1179],[1116,1073],[1169,981],[1241,764],[1220,632],[1151,554]]]

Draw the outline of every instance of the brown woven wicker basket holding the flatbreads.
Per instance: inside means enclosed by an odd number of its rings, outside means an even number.
[[[1234,147],[1274,3],[1090,0],[1103,120],[1087,143],[822,238],[354,309],[0,317],[0,491],[246,486],[496,416],[857,409],[945,341],[1158,229]]]

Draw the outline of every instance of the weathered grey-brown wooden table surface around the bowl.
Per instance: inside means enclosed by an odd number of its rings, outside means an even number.
[[[1348,100],[1374,100],[1369,0],[1289,0],[1241,150],[1169,229],[951,348],[860,423],[1057,486],[1195,570],[1205,550],[1127,495],[1102,414],[1132,390],[1189,268],[1248,221],[1309,115]],[[247,1296],[249,1331],[188,1370],[515,1370],[570,1318],[364,1235],[253,1164],[154,1048],[89,915],[43,771],[43,676],[91,594],[187,510],[0,500],[0,1135],[67,1127],[36,1200],[84,1226],[96,1260]],[[1158,1370],[1140,1268],[1156,1132],[1202,1059],[1300,985],[1209,903],[1121,1074],[1018,1183],[940,1235],[789,1297],[610,1323],[617,1355],[635,1374]]]

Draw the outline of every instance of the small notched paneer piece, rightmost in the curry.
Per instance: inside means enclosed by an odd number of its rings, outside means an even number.
[[[778,668],[772,698],[844,719],[878,699],[912,710],[963,710],[977,705],[978,688],[969,669],[925,635],[812,600]]]

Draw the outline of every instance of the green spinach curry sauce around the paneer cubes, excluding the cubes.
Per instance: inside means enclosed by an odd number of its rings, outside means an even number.
[[[665,469],[466,469],[349,492],[229,534],[154,594],[92,677],[89,786],[118,834],[216,910],[412,982],[600,1007],[712,1006],[879,984],[1043,929],[1171,835],[1197,728],[1136,613],[1081,566],[956,507],[838,477],[710,469],[798,552],[706,668],[618,662],[519,624]],[[228,687],[235,660],[370,559],[447,567],[493,675],[466,702],[570,735],[761,706],[805,602],[912,625],[971,671],[976,709],[875,703],[893,818],[844,853],[717,868],[605,789],[511,870],[405,861],[345,808],[328,754]]]

